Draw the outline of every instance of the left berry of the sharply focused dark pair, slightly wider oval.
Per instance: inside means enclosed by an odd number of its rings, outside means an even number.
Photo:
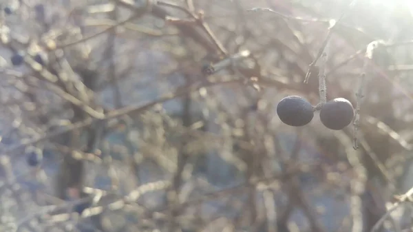
[[[286,125],[301,127],[313,120],[313,105],[301,96],[286,96],[277,105],[279,119]]]

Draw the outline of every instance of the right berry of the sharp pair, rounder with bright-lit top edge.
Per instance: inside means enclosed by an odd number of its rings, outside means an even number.
[[[329,129],[343,129],[351,123],[353,117],[354,108],[346,98],[335,98],[320,110],[321,123]]]

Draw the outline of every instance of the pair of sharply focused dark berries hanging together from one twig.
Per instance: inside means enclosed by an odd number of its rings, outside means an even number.
[[[286,125],[301,127],[314,117],[313,105],[301,96],[286,96],[277,105],[279,119]],[[345,98],[335,98],[320,109],[320,120],[329,129],[347,127],[354,117],[354,108]]]

